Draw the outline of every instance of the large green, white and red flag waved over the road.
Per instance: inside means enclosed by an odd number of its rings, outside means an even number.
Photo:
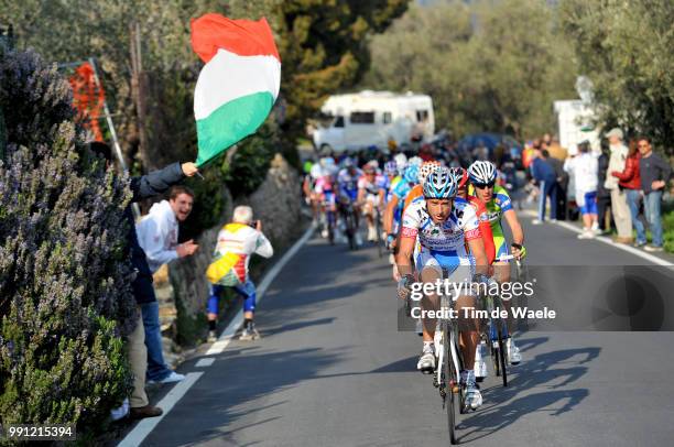
[[[267,19],[206,14],[192,21],[192,47],[206,63],[194,91],[202,166],[252,134],[281,86],[281,58]]]

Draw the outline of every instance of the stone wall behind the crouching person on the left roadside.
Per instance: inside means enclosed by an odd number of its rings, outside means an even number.
[[[272,160],[264,182],[250,197],[239,197],[232,203],[229,192],[226,196],[226,221],[231,218],[236,205],[250,205],[253,218],[262,220],[262,232],[272,241],[275,251],[289,246],[297,237],[302,219],[301,179],[280,154]],[[175,331],[177,341],[183,345],[192,345],[206,334],[205,312],[209,284],[205,272],[213,261],[218,231],[226,221],[202,233],[196,240],[199,244],[197,253],[170,264],[177,308]]]

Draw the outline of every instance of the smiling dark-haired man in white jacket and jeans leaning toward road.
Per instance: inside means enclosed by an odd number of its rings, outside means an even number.
[[[192,212],[194,193],[185,186],[171,188],[168,200],[152,205],[150,212],[135,226],[138,243],[148,257],[150,271],[155,273],[163,264],[175,259],[194,254],[198,246],[189,240],[177,243],[178,222],[185,221]],[[155,301],[141,306],[148,347],[148,381],[180,382],[185,375],[171,370],[164,361],[162,330],[159,319],[159,303]]]

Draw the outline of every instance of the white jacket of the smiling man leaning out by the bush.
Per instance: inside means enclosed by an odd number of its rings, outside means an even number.
[[[178,258],[178,222],[167,200],[152,205],[150,212],[135,225],[138,243],[148,257],[152,273]]]

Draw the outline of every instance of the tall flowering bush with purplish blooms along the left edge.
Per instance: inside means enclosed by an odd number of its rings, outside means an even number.
[[[33,52],[0,47],[0,422],[100,427],[130,391],[127,179],[73,123]]]

